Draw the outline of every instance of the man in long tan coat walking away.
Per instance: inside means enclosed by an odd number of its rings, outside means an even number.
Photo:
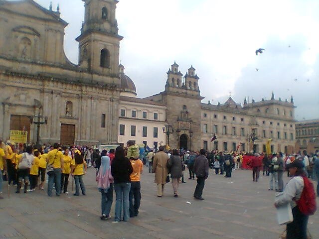
[[[155,183],[158,186],[158,197],[160,198],[163,196],[166,177],[168,175],[168,155],[164,152],[164,146],[160,146],[159,150],[160,151],[154,156],[153,173],[155,173]]]

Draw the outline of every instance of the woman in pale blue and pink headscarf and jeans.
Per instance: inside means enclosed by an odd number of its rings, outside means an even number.
[[[113,202],[113,177],[111,174],[111,160],[107,156],[107,150],[103,150],[101,153],[101,166],[99,168],[98,175],[96,177],[98,183],[98,189],[101,192],[101,220],[107,220],[110,218],[110,211]]]

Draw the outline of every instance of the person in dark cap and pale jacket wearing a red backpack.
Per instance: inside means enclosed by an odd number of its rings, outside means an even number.
[[[306,176],[300,160],[290,163],[288,170],[292,179],[287,183],[283,196],[275,201],[275,207],[290,203],[294,221],[287,224],[287,239],[307,239],[310,215],[317,209],[314,185]]]

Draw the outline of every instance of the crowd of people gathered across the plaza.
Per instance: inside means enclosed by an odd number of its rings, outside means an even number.
[[[253,181],[260,180],[260,172],[269,176],[269,190],[282,192],[284,197],[276,200],[275,207],[284,203],[292,204],[294,222],[287,225],[287,239],[305,238],[309,215],[302,213],[299,201],[309,185],[308,178],[319,181],[319,151],[308,154],[307,151],[285,155],[283,153],[250,154],[238,152],[207,152],[200,149],[197,152],[172,149],[165,151],[164,146],[159,150],[141,150],[141,147],[129,140],[126,147],[118,146],[115,150],[102,150],[91,147],[61,147],[55,143],[52,146],[32,147],[12,144],[9,140],[4,144],[0,141],[0,192],[2,178],[8,185],[16,186],[16,193],[23,189],[24,193],[44,189],[48,177],[47,195],[56,196],[68,194],[69,176],[75,182],[74,196],[86,195],[83,175],[87,167],[96,168],[96,181],[101,192],[101,220],[110,218],[113,203],[113,191],[116,194],[114,223],[127,222],[129,218],[139,215],[141,205],[141,174],[144,164],[149,173],[155,174],[157,196],[164,195],[165,184],[171,181],[173,197],[178,198],[178,185],[184,182],[184,171],[188,169],[188,179],[197,184],[193,197],[202,197],[205,180],[209,168],[215,174],[231,177],[234,170],[243,168],[243,164],[252,169]],[[283,175],[292,177],[284,187]],[[307,186],[307,187],[306,187]],[[319,196],[319,184],[317,185]],[[2,196],[0,195],[0,198]],[[298,201],[299,200],[299,201]],[[298,223],[297,223],[298,222]],[[293,237],[292,235],[299,235]],[[306,235],[306,236],[305,236]]]

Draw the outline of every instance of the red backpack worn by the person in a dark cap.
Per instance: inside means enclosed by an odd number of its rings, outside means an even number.
[[[301,213],[307,216],[314,215],[317,210],[314,185],[306,176],[303,176],[303,179],[305,184],[304,190],[301,198],[296,203]]]

